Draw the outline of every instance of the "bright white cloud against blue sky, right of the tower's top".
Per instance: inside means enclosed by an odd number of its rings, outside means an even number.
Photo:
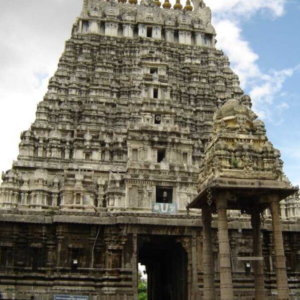
[[[253,109],[259,117],[271,120],[274,97],[282,93],[284,81],[299,68],[269,70],[259,68],[259,56],[242,36],[241,23],[255,13],[264,12],[270,17],[284,13],[287,0],[206,0],[213,11],[217,47],[229,57],[233,71],[239,76],[241,87],[249,91]],[[276,105],[275,105],[276,106]],[[282,112],[282,108],[276,113]],[[287,108],[287,107],[285,107]],[[277,123],[281,122],[276,120]]]

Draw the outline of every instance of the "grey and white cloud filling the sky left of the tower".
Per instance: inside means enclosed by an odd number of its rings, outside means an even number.
[[[18,154],[82,0],[0,1],[0,171]]]

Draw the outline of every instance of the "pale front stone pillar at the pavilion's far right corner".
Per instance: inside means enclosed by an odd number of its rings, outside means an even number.
[[[279,197],[277,195],[270,195],[269,200],[270,200],[270,208],[271,208],[271,216],[272,216],[272,227],[273,227],[273,241],[274,241],[276,281],[277,281],[277,299],[290,300],[289,292],[288,292],[288,284],[287,284],[281,223],[280,223]]]

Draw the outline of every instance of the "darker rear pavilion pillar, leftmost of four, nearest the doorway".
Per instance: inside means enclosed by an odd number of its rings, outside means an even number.
[[[211,209],[207,204],[202,207],[203,223],[203,285],[204,299],[215,300],[214,263],[211,239]]]

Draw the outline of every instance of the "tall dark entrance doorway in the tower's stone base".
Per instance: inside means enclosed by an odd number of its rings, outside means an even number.
[[[148,300],[187,300],[187,254],[175,236],[138,237],[138,262],[146,267]]]

